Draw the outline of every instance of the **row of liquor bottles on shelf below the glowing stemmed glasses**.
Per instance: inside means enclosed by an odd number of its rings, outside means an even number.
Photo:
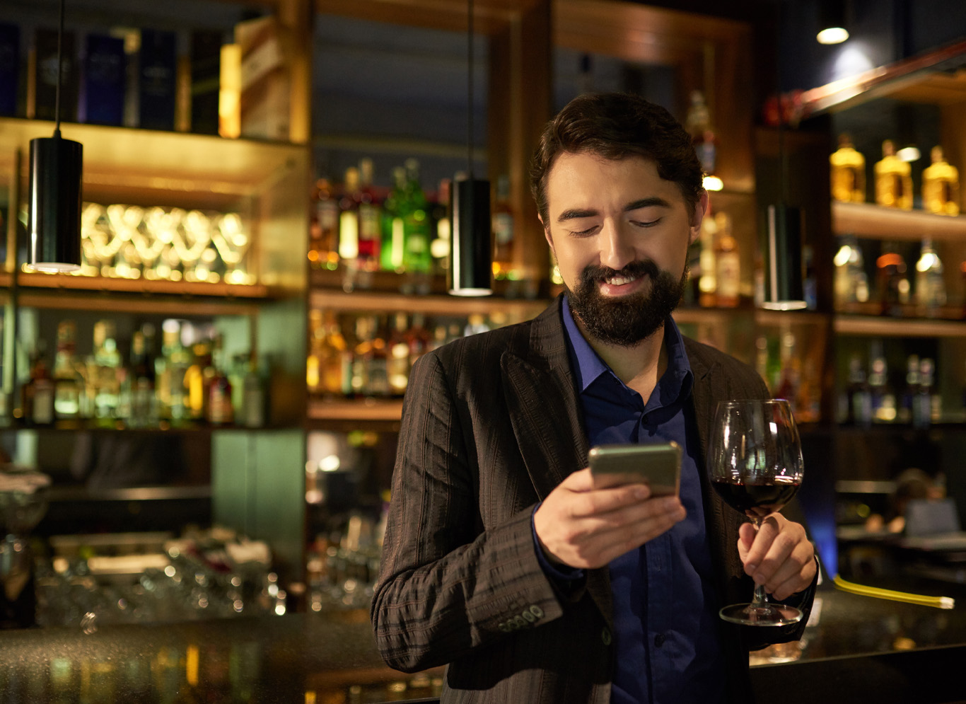
[[[93,350],[75,354],[76,324],[57,326],[53,367],[39,339],[14,418],[26,425],[166,427],[265,424],[266,390],[253,356],[226,359],[213,325],[167,319],[143,324],[122,355],[113,320],[94,325]]]

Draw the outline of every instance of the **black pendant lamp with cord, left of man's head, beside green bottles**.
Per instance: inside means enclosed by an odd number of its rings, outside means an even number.
[[[490,224],[490,182],[473,178],[473,0],[468,0],[467,52],[467,175],[453,180],[452,243],[447,288],[453,296],[493,293],[493,242]]]

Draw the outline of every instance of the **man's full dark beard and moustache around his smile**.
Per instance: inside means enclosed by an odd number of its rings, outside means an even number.
[[[650,279],[650,290],[629,296],[610,297],[600,292],[598,284],[613,276],[643,275]],[[634,261],[620,271],[610,267],[586,267],[572,291],[564,284],[570,311],[581,321],[587,334],[601,342],[631,347],[660,330],[668,315],[677,308],[688,282],[688,267],[680,278],[658,268],[651,259]]]

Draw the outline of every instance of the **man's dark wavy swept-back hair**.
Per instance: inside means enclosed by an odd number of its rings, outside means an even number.
[[[545,226],[547,176],[563,152],[653,160],[658,175],[677,184],[690,211],[703,191],[704,174],[691,135],[668,110],[629,93],[585,93],[547,123],[530,160],[530,191]]]

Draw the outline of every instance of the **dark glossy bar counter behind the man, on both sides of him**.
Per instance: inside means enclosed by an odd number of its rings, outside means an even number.
[[[753,665],[757,700],[966,701],[966,588],[920,593],[957,601],[938,609],[821,587],[817,624],[800,644],[772,653],[794,660]],[[416,675],[385,667],[358,609],[88,631],[5,631],[0,701],[438,701],[444,676],[441,667]]]

